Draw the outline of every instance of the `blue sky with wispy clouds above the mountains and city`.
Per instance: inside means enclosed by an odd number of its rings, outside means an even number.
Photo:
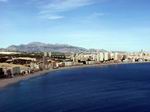
[[[0,48],[44,42],[150,51],[149,0],[0,0]]]

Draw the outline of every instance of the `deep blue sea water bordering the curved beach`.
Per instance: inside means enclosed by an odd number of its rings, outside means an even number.
[[[55,71],[0,90],[0,112],[150,112],[150,64]]]

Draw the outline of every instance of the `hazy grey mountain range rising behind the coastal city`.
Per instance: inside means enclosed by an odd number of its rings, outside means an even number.
[[[29,44],[11,45],[1,51],[19,51],[19,52],[97,52],[96,49],[86,49],[82,47],[66,44],[47,44],[41,42],[32,42]],[[105,51],[105,50],[101,50]]]

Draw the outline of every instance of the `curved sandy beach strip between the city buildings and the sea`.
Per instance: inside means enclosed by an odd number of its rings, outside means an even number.
[[[142,64],[142,63],[150,63],[150,62],[132,62],[132,63],[101,63],[101,64],[93,64],[93,65],[77,65],[77,66],[70,66],[70,67],[62,67],[58,69],[49,69],[49,70],[43,70],[38,71],[32,74],[24,75],[24,76],[16,76],[14,78],[8,78],[8,79],[0,79],[0,89],[3,89],[9,85],[18,83],[23,80],[28,80],[34,77],[43,76],[46,75],[49,72],[53,71],[60,71],[60,70],[66,70],[66,69],[74,69],[74,68],[87,68],[87,67],[104,67],[104,66],[110,66],[110,65],[122,65],[122,64]]]

